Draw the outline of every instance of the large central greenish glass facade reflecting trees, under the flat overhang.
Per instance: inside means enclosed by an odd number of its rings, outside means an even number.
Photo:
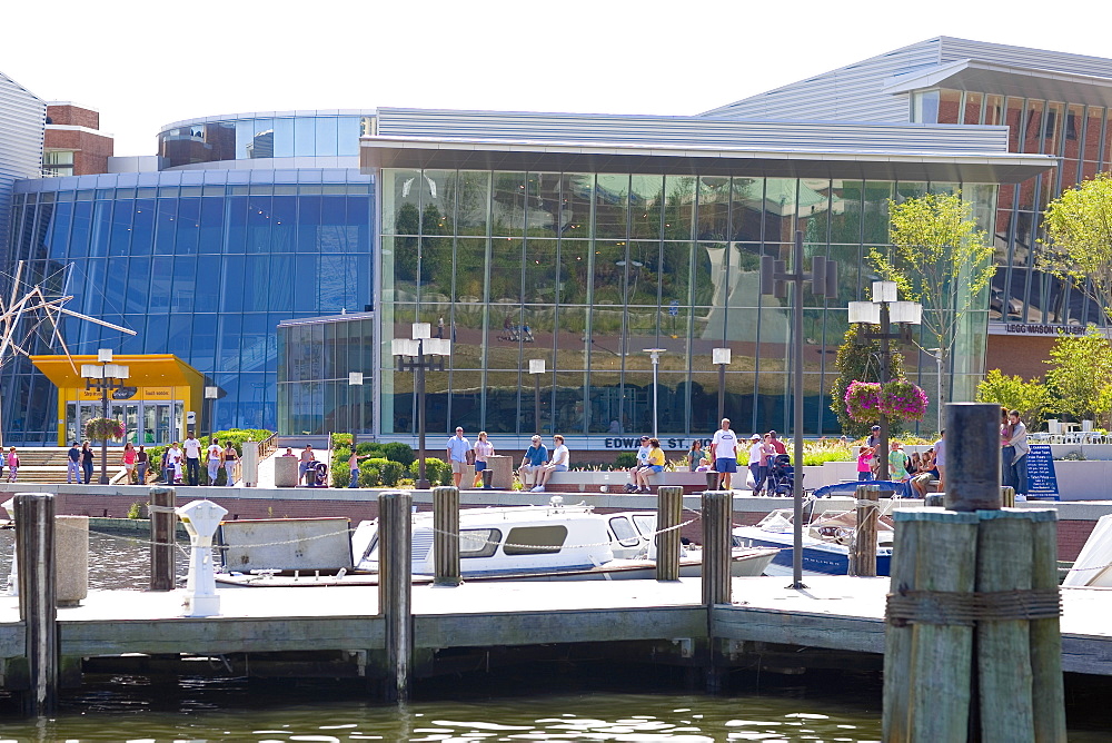
[[[762,255],[786,255],[802,230],[807,256],[840,267],[836,299],[803,297],[805,432],[837,435],[827,395],[834,355],[846,303],[874,279],[864,258],[887,242],[887,200],[959,187],[384,169],[381,434],[415,430],[414,375],[396,373],[390,357],[391,337],[409,337],[414,321],[453,340],[448,369],[427,375],[430,433],[457,425],[534,433],[530,359],[546,361],[544,432],[652,430],[654,373],[644,349],[663,348],[658,429],[705,436],[717,427],[715,347],[732,350],[724,394],[734,428],[790,429],[792,300],[759,294],[758,264]],[[983,229],[992,225],[995,191],[962,188]],[[963,397],[983,364],[983,306],[967,317],[953,354],[953,389]],[[935,374],[931,361],[920,384],[933,389]]]

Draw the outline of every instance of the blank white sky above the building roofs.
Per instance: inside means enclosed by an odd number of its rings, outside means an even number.
[[[163,125],[249,111],[689,116],[936,36],[1112,57],[1102,7],[1055,18],[1030,0],[4,0],[0,72],[99,110],[117,155],[153,155]]]

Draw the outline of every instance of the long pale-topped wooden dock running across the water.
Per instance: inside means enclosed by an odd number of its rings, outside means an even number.
[[[414,586],[415,671],[443,672],[448,666],[441,656],[468,651],[587,643],[620,645],[625,660],[633,647],[646,662],[678,665],[703,666],[713,655],[719,666],[752,666],[757,657],[774,664],[768,658],[778,657],[806,667],[825,665],[834,653],[840,663],[856,656],[858,665],[880,667],[887,578],[807,577],[803,591],[785,583],[734,578],[733,603],[709,610],[699,603],[698,578]],[[219,616],[188,618],[181,616],[181,591],[92,591],[80,606],[58,611],[60,655],[113,657],[115,667],[140,672],[151,656],[234,654],[244,663],[228,666],[237,674],[377,675],[386,637],[377,588],[219,593]],[[1063,670],[1112,675],[1112,626],[1105,618],[1112,591],[1062,593]],[[0,686],[20,688],[23,644],[18,600],[0,596]],[[276,654],[299,660],[282,663]]]

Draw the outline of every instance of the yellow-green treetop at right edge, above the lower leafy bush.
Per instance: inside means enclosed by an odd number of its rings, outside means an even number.
[[[1112,174],[1062,191],[1043,212],[1037,268],[1069,281],[1112,319]]]

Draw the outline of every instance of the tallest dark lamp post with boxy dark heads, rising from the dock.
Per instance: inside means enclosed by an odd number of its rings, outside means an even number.
[[[792,488],[794,509],[794,539],[792,548],[792,583],[788,588],[806,588],[803,583],[803,285],[811,283],[811,291],[818,297],[837,296],[837,264],[825,256],[811,259],[811,273],[803,270],[803,231],[796,230],[792,251],[792,270],[787,262],[772,256],[761,256],[761,294],[781,299],[787,296],[787,284],[795,285],[792,293],[792,346],[794,347],[795,378],[793,413],[795,427],[795,484]]]

